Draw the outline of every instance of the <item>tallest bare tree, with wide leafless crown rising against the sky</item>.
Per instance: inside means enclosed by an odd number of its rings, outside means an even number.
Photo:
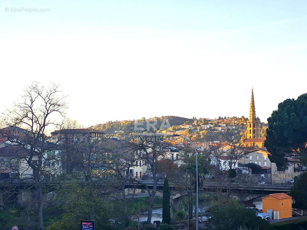
[[[60,96],[58,85],[44,87],[34,82],[33,85],[25,89],[22,101],[14,103],[14,108],[8,110],[3,117],[3,124],[8,128],[2,129],[2,139],[5,139],[8,145],[18,146],[19,151],[14,157],[19,158],[19,162],[23,163],[19,174],[23,179],[31,178],[33,181],[33,187],[37,194],[40,229],[44,229],[44,186],[42,181],[46,175],[55,172],[50,169],[49,163],[50,161],[55,163],[57,160],[56,155],[47,154],[52,148],[55,148],[56,143],[50,142],[51,139],[46,135],[46,132],[61,125],[55,120],[57,118],[62,120],[65,115],[64,99],[64,96]],[[14,132],[17,127],[21,129],[16,134]],[[10,129],[13,129],[13,133],[7,132]]]

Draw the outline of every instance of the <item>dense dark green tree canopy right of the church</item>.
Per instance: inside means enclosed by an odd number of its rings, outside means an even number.
[[[307,162],[307,94],[279,103],[268,124],[264,146],[278,169],[286,167],[287,156],[298,155]]]

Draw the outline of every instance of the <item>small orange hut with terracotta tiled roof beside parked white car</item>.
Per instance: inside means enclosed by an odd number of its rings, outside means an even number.
[[[292,197],[285,193],[275,193],[262,197],[262,211],[267,209],[279,212],[279,219],[292,217]]]

